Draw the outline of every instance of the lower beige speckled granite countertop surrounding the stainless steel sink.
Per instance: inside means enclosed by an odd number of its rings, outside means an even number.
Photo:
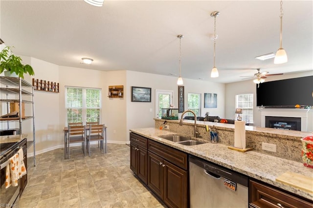
[[[303,191],[275,181],[279,175],[286,171],[313,177],[313,169],[303,166],[302,163],[262,154],[256,151],[239,152],[229,149],[222,144],[205,143],[195,146],[184,146],[158,137],[160,135],[175,133],[152,127],[130,129],[130,131],[313,200],[312,192]]]

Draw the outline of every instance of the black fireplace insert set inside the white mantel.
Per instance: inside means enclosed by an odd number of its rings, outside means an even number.
[[[301,118],[266,116],[265,127],[301,131]]]

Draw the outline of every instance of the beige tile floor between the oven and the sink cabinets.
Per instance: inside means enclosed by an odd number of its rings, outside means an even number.
[[[107,154],[90,148],[84,157],[81,147],[70,147],[69,160],[63,148],[37,155],[19,208],[166,207],[134,177],[129,146],[108,144]]]

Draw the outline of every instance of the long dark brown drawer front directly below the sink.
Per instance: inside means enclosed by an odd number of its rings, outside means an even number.
[[[183,169],[187,169],[187,154],[169,146],[162,145],[153,140],[148,142],[148,150],[159,155],[165,160],[177,165]]]

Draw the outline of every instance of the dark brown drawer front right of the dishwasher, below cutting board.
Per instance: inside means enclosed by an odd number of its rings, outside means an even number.
[[[265,184],[249,181],[249,205],[253,208],[312,208],[313,204]]]

